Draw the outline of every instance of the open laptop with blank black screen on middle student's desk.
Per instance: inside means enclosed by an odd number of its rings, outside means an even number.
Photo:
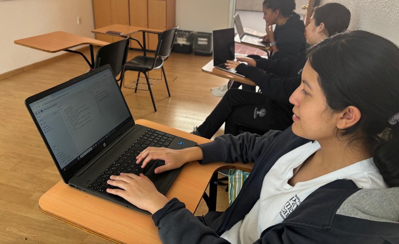
[[[235,59],[234,28],[212,31],[213,66],[217,69],[245,77],[237,73],[235,69],[227,69],[227,60]]]

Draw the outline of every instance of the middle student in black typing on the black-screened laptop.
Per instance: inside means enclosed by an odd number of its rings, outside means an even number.
[[[314,9],[306,27],[306,41],[314,45],[336,33],[345,31],[350,22],[350,11],[338,3],[328,3]],[[262,93],[230,89],[205,121],[194,128],[193,134],[210,139],[225,122],[225,134],[240,132],[265,134],[269,130],[284,130],[291,124],[292,104],[288,98],[300,84],[306,63],[305,49],[285,59],[240,58],[239,63],[227,61],[258,85]],[[267,74],[263,71],[266,70]],[[286,78],[282,75],[289,74]]]

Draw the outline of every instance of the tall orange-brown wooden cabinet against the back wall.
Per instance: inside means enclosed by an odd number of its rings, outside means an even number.
[[[93,0],[95,28],[111,24],[124,24],[168,30],[176,26],[176,0]],[[142,33],[133,34],[142,43]],[[120,37],[96,34],[103,41],[117,41]],[[158,44],[157,34],[146,34],[146,47],[155,50]],[[135,42],[131,47],[140,48]]]

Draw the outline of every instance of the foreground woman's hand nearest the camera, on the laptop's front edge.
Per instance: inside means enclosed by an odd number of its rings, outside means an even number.
[[[143,174],[140,174],[140,176],[131,173],[120,173],[119,176],[111,175],[107,183],[120,188],[108,188],[108,193],[123,197],[129,203],[152,214],[162,209],[169,201],[158,192],[154,183]]]

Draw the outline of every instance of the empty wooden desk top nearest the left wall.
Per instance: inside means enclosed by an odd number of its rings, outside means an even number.
[[[104,46],[109,44],[93,38],[71,34],[65,31],[54,31],[51,33],[36,35],[14,41],[15,44],[38,49],[48,53],[56,53],[83,44]]]

